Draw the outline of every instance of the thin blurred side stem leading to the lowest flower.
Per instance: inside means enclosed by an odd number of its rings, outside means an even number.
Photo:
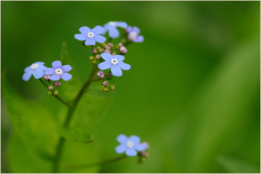
[[[61,167],[64,168],[64,169],[86,169],[86,168],[93,167],[93,166],[100,166],[100,165],[104,165],[104,164],[109,164],[111,162],[119,161],[119,160],[121,160],[125,157],[126,157],[126,155],[118,156],[116,158],[112,158],[112,159],[109,159],[109,160],[94,162],[94,163],[89,163],[89,164],[82,164],[82,165],[62,164]]]

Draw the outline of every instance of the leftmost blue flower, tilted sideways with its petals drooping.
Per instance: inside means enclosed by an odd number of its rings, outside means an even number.
[[[39,79],[44,76],[43,71],[47,68],[46,66],[43,65],[43,62],[35,62],[31,66],[27,67],[24,69],[24,75],[22,79],[24,81],[28,81],[32,74],[36,79]]]

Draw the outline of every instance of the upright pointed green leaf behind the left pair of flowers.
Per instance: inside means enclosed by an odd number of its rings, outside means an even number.
[[[81,83],[79,80],[79,76],[77,75],[77,72],[75,70],[75,65],[73,64],[73,62],[69,57],[65,41],[62,43],[60,58],[61,58],[62,65],[71,65],[73,69],[68,73],[70,73],[73,77],[69,81],[62,82],[62,86],[59,88],[60,89],[59,95],[64,97],[66,101],[73,101],[73,99],[76,97],[76,95],[79,92]]]

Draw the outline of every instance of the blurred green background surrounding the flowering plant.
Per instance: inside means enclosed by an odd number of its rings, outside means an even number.
[[[260,173],[260,1],[1,1],[1,74],[6,72],[10,88],[48,107],[57,120],[62,104],[33,77],[24,82],[24,68],[37,61],[50,67],[66,41],[83,84],[92,67],[90,48],[74,34],[111,20],[138,26],[144,42],[127,48],[131,69],[114,77],[111,104],[101,106],[106,114],[90,128],[95,142],[66,142],[62,161],[117,157],[120,133],[147,141],[150,157],[143,164],[129,157],[60,172]],[[5,100],[3,79],[1,173],[49,173],[51,162],[35,157],[10,123],[6,102],[18,109],[20,99]],[[32,119],[47,130],[55,127],[44,114]]]

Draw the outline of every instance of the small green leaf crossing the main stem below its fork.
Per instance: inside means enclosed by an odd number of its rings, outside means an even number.
[[[93,135],[91,133],[79,128],[60,127],[56,130],[56,132],[61,137],[64,137],[65,139],[69,139],[69,140],[81,141],[84,143],[91,143],[94,141]]]

